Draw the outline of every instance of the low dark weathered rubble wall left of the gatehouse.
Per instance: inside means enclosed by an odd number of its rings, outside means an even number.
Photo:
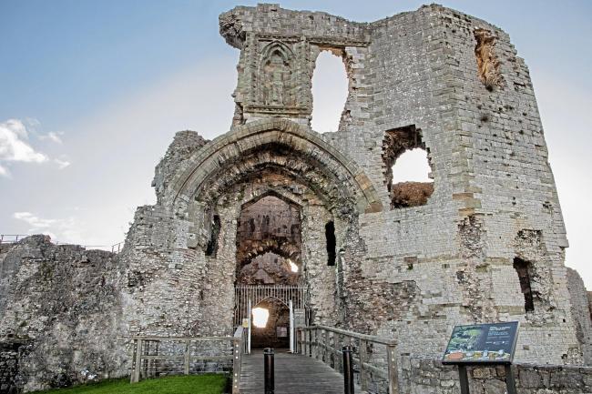
[[[46,389],[128,373],[115,255],[33,236],[5,253],[0,271],[2,384]]]

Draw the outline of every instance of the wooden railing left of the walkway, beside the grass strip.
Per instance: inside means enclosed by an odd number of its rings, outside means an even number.
[[[242,327],[232,337],[134,337],[130,382],[232,369],[232,393],[236,394],[240,386],[240,363],[246,351],[245,337],[246,330]]]

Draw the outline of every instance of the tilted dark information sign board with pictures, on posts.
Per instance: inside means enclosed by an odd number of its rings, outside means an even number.
[[[444,351],[444,364],[510,364],[518,322],[456,326]]]

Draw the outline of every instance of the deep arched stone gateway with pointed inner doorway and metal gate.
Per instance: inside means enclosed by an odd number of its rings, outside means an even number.
[[[308,127],[285,119],[238,126],[201,147],[173,177],[163,201],[188,219],[189,248],[200,249],[219,268],[236,268],[218,283],[235,286],[233,309],[226,311],[235,328],[250,319],[261,294],[293,305],[297,317],[310,320],[314,314],[334,324],[340,268],[328,263],[334,251],[327,248],[325,227],[338,224],[338,241],[330,238],[337,250],[348,223],[360,212],[382,208],[362,170]],[[267,304],[272,313],[281,309]],[[276,337],[284,323],[273,328]],[[291,320],[290,333],[292,328]]]

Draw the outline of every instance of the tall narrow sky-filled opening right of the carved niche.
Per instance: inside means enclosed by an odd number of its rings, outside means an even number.
[[[337,131],[348,96],[348,86],[342,50],[323,50],[317,57],[312,75],[313,130],[320,133]]]

